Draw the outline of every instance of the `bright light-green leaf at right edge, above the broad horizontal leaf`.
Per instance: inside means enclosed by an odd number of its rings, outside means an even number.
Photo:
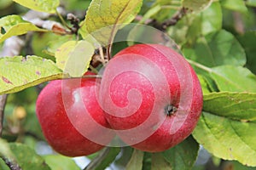
[[[256,93],[256,76],[247,68],[222,65],[212,68],[211,77],[220,91]]]

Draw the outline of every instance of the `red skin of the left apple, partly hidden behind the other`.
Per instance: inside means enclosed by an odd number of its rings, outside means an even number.
[[[85,75],[94,74],[87,72]],[[78,81],[80,79],[49,82],[39,94],[36,103],[38,121],[45,138],[55,151],[65,156],[87,156],[104,147],[85,138],[78,129],[84,128],[89,133],[96,133],[106,140],[106,144],[113,138],[111,134],[90,125],[90,120],[84,118],[90,115],[103,127],[109,127],[96,99],[96,79],[83,78],[79,86],[74,85],[78,84]],[[79,99],[77,94],[81,95]],[[84,112],[83,106],[86,107],[87,112]],[[73,126],[67,111],[71,111],[70,115],[80,123],[80,127]]]

